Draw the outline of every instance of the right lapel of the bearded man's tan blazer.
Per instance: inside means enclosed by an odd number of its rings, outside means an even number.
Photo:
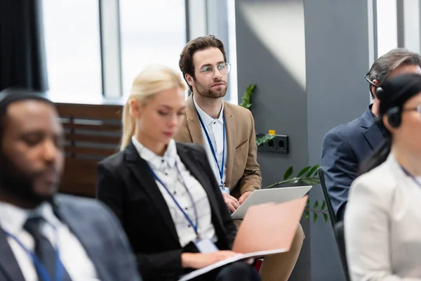
[[[235,116],[230,106],[228,103],[224,103],[225,133],[227,133],[227,170],[225,171],[225,183],[227,186],[231,184],[236,143]],[[234,188],[234,186],[228,187]]]

